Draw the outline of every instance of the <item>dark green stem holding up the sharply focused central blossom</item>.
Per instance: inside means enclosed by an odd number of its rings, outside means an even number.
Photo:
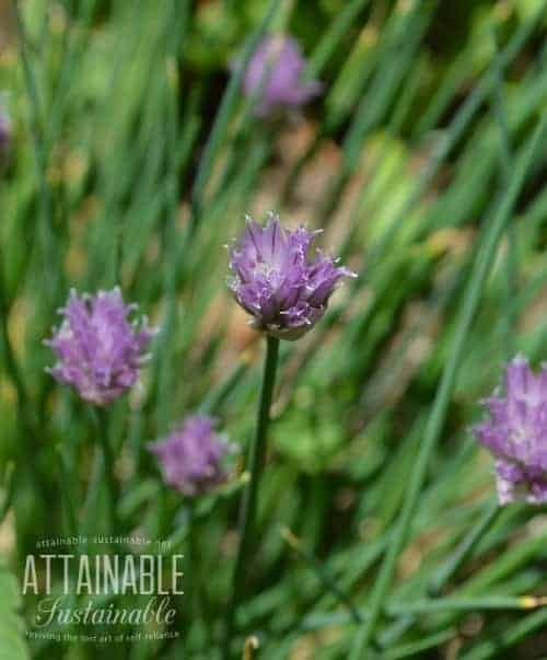
[[[270,419],[271,397],[276,382],[276,369],[279,354],[279,339],[267,337],[266,362],[264,366],[263,386],[260,391],[260,403],[256,424],[255,438],[251,445],[249,473],[251,479],[243,494],[240,509],[240,545],[232,581],[232,599],[226,610],[225,635],[223,645],[223,658],[230,658],[230,642],[233,636],[235,611],[243,593],[243,578],[247,568],[247,560],[253,537],[255,523],[256,500],[258,494],[258,480],[266,456],[266,437]]]

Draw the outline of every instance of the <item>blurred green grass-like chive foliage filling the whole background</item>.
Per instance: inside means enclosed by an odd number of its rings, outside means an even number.
[[[32,0],[11,18],[0,546],[12,569],[37,539],[107,514],[93,418],[44,372],[42,340],[70,287],[118,282],[162,329],[142,390],[108,417],[116,518],[184,552],[187,593],[178,639],[108,657],[217,657],[241,475],[191,506],[144,445],[208,410],[243,468],[264,349],[226,290],[223,246],[245,212],[277,210],[325,228],[323,245],[360,277],[281,347],[234,657],[249,635],[271,660],[547,655],[532,598],[547,588],[544,508],[492,505],[492,462],[468,431],[509,357],[546,355],[547,4]],[[305,118],[258,120],[229,61],[281,30],[325,92]],[[0,658],[24,658],[16,599],[1,591]],[[32,646],[44,660],[103,657]]]

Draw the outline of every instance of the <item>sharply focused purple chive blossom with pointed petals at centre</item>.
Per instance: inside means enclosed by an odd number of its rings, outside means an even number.
[[[323,316],[330,294],[354,273],[316,251],[319,231],[283,229],[274,213],[261,227],[247,218],[241,240],[230,250],[229,286],[252,325],[280,339],[298,339]]]

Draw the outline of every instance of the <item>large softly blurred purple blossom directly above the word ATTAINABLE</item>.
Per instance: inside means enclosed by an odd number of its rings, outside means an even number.
[[[118,398],[139,379],[150,339],[156,332],[146,317],[130,322],[136,304],[125,304],[118,287],[96,296],[70,292],[63,321],[46,340],[58,358],[48,371],[98,406]]]

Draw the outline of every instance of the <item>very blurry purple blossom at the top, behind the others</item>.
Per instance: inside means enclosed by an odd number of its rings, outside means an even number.
[[[243,77],[245,94],[258,94],[255,105],[257,116],[301,107],[321,93],[323,85],[318,80],[303,79],[305,63],[293,37],[276,35],[263,39]]]

